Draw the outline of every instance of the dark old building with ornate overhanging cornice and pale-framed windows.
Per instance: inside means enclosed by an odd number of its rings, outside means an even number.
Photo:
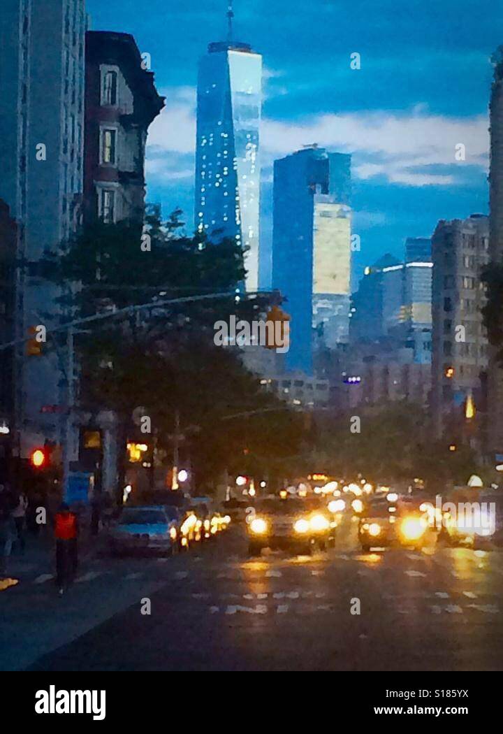
[[[143,222],[147,130],[163,106],[133,36],[86,33],[86,219]]]

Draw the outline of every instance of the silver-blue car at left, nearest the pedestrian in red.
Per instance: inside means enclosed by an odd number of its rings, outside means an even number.
[[[110,531],[111,550],[114,553],[176,553],[180,520],[180,511],[173,506],[125,507]]]

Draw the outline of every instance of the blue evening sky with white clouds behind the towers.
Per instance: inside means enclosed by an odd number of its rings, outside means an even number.
[[[87,0],[92,28],[132,33],[166,109],[150,128],[148,199],[192,226],[197,59],[226,32],[227,0]],[[262,237],[271,164],[306,143],[353,154],[356,275],[438,219],[488,211],[497,0],[235,0],[235,36],[263,55]],[[350,54],[361,68],[350,68]],[[455,146],[466,146],[456,161]]]

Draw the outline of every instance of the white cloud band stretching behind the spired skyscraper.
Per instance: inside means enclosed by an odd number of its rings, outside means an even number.
[[[281,72],[269,70],[268,75],[273,78]],[[196,140],[196,90],[172,87],[163,93],[166,108],[150,126],[147,170],[164,180],[188,178],[188,156],[194,156]],[[329,150],[352,153],[353,175],[363,180],[383,177],[388,183],[406,186],[449,186],[463,183],[463,167],[488,167],[485,115],[434,115],[424,104],[416,104],[405,112],[323,113],[302,120],[265,117],[261,130],[262,168],[266,170],[274,159],[313,142]],[[466,161],[455,159],[458,143],[466,147]],[[183,170],[175,171],[172,156],[183,156]],[[439,171],[438,167],[448,169]]]

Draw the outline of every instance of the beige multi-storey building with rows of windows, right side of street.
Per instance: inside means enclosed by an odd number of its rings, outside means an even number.
[[[483,401],[488,342],[480,309],[480,270],[488,262],[488,217],[441,220],[433,234],[433,359],[431,409],[436,434],[455,439],[466,401]]]

